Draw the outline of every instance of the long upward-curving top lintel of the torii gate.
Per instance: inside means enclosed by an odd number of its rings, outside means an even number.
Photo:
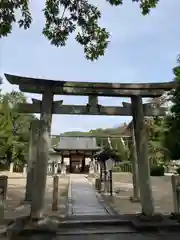
[[[5,74],[13,85],[19,85],[22,92],[40,93],[51,88],[54,94],[106,97],[159,97],[164,91],[175,87],[175,81],[163,83],[103,83],[103,82],[67,82],[30,78]]]

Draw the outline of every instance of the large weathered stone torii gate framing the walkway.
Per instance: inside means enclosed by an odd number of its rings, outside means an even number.
[[[133,116],[142,213],[149,217],[154,215],[144,116],[163,116],[166,109],[156,109],[149,104],[143,104],[142,98],[160,97],[164,91],[169,91],[175,86],[174,82],[120,84],[52,81],[10,74],[5,74],[5,77],[11,84],[19,85],[22,92],[42,94],[42,101],[33,99],[32,104],[25,103],[18,106],[20,113],[41,115],[40,125],[37,127],[39,141],[35,141],[38,144],[38,157],[33,178],[32,217],[40,218],[43,213],[52,114]],[[53,101],[55,94],[88,96],[88,104],[63,105],[63,101]],[[124,104],[123,107],[102,106],[98,104],[98,96],[130,97],[131,104]],[[28,165],[31,166],[31,163]]]

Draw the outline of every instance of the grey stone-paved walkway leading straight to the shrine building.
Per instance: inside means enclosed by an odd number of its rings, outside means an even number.
[[[109,215],[98,200],[95,189],[84,175],[70,175],[68,198],[69,216]]]

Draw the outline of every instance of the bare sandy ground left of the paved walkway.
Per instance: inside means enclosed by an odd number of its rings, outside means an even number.
[[[17,216],[27,215],[30,212],[29,205],[23,205],[25,196],[26,177],[21,173],[1,172],[0,175],[8,176],[8,191],[5,201],[5,219],[14,219]],[[69,176],[59,177],[59,205],[58,212],[52,212],[53,178],[47,176],[47,191],[45,196],[45,214],[64,217],[67,211]]]

